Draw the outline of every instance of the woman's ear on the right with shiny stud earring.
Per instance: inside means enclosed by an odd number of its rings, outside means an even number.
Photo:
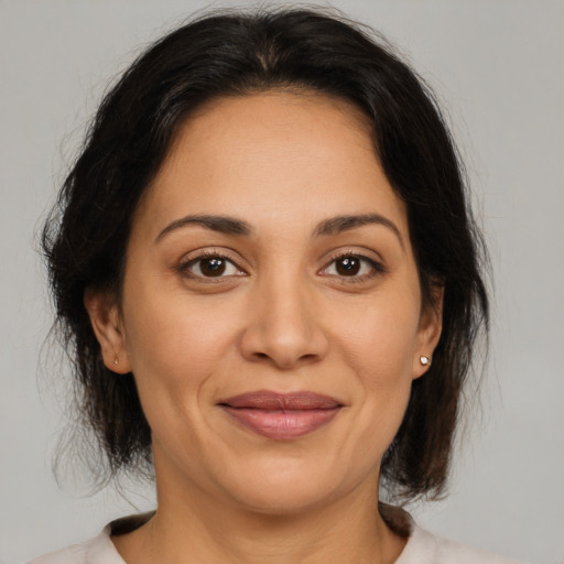
[[[434,285],[431,290],[431,302],[426,303],[421,311],[417,343],[413,358],[414,379],[423,376],[433,362],[433,352],[443,329],[444,290],[443,285]],[[421,361],[422,357],[429,359],[426,365]]]

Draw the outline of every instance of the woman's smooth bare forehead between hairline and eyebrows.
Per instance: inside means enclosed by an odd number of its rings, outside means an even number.
[[[368,118],[316,94],[208,102],[181,127],[139,212],[155,224],[152,231],[183,214],[305,226],[370,212],[406,231],[404,205],[378,162]]]

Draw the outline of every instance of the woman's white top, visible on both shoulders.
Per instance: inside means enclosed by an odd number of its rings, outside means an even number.
[[[94,539],[73,544],[29,564],[126,564],[110,540],[110,525]],[[411,533],[395,564],[518,564],[516,561],[442,539],[411,522]]]

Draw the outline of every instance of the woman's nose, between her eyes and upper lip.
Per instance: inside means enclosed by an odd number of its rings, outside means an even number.
[[[247,360],[289,370],[326,356],[328,340],[321,312],[304,285],[271,280],[252,293],[240,340]]]

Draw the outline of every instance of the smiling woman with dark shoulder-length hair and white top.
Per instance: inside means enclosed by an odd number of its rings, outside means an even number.
[[[436,105],[311,11],[206,17],[104,100],[45,229],[82,410],[154,513],[39,563],[508,562],[379,501],[444,491],[487,326]]]

